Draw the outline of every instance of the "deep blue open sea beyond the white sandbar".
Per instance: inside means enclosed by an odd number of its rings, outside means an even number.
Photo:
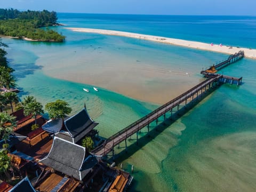
[[[127,31],[256,48],[256,17],[59,13],[70,27]]]

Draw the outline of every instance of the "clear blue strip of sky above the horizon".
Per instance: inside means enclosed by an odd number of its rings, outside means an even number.
[[[0,0],[0,8],[65,13],[256,15],[255,0]]]

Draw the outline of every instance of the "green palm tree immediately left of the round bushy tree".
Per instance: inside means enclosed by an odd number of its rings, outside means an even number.
[[[44,113],[43,105],[37,102],[33,96],[26,97],[23,103],[25,104],[23,105],[24,115],[26,116],[32,115],[32,117],[35,118],[35,124],[36,124],[36,116]]]

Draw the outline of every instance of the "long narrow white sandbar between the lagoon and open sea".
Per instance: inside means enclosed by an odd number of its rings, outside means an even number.
[[[159,36],[153,36],[153,35],[143,35],[143,34],[129,33],[129,32],[116,31],[116,30],[72,28],[72,27],[64,27],[64,28],[77,31],[77,32],[83,32],[83,33],[97,33],[102,35],[115,35],[115,36],[123,36],[123,37],[130,37],[130,38],[138,38],[138,39],[144,39],[147,41],[154,41],[159,43],[189,47],[192,49],[214,51],[214,52],[226,53],[226,54],[234,54],[234,53],[237,53],[238,51],[244,51],[245,57],[256,59],[256,49],[233,47],[233,46],[227,46],[222,44],[215,45],[213,43],[209,44],[209,43],[202,43],[202,42],[195,42],[195,41],[187,41],[183,39],[159,37]]]

